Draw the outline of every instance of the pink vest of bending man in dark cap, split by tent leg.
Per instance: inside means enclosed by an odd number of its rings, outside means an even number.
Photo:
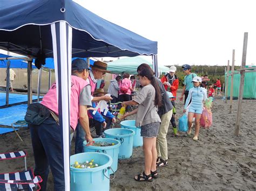
[[[78,118],[79,118],[79,95],[82,89],[87,86],[88,83],[81,77],[71,76],[71,95],[70,95],[70,126],[75,131]],[[56,83],[52,84],[52,87],[48,93],[44,96],[41,102],[46,108],[55,112],[58,115],[57,104],[57,91]]]

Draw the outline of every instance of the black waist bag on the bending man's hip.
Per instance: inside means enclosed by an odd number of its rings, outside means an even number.
[[[40,125],[50,117],[50,111],[40,103],[32,103],[26,110],[25,121],[33,124]]]

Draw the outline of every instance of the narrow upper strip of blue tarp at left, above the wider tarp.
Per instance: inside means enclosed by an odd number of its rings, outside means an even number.
[[[0,106],[5,105],[5,93],[0,93]],[[42,98],[42,96],[41,96]],[[32,100],[36,100],[37,96],[32,96]],[[9,104],[20,103],[28,101],[28,95],[23,94],[9,94]]]

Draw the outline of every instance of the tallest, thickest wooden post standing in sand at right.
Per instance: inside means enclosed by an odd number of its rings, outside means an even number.
[[[241,68],[245,68],[246,52],[247,52],[247,40],[248,40],[248,32],[245,32],[245,34],[244,34],[244,46],[242,47]],[[237,122],[235,123],[235,135],[237,135],[237,136],[239,134],[240,121],[241,121],[242,96],[244,94],[244,83],[245,83],[245,70],[240,70],[240,74],[241,74],[241,79],[240,79],[240,89],[239,89],[239,97],[238,97]]]

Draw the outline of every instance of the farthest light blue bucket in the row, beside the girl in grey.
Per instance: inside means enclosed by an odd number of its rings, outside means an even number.
[[[143,138],[140,136],[140,128],[135,126],[135,120],[122,121],[120,124],[121,128],[131,129],[135,132],[135,135],[133,136],[133,147],[143,146]]]

